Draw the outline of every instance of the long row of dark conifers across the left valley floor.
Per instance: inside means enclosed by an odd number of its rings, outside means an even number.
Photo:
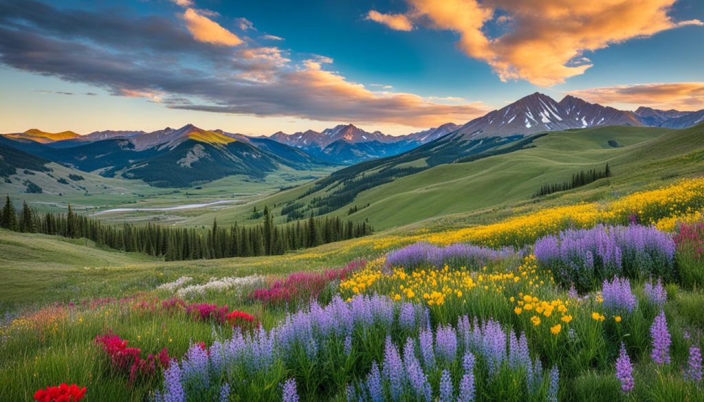
[[[372,233],[367,222],[354,223],[340,218],[313,218],[274,225],[274,217],[264,208],[258,225],[221,227],[217,220],[207,229],[163,225],[103,225],[99,220],[78,215],[71,206],[68,213],[40,214],[24,202],[18,213],[10,197],[0,215],[0,227],[17,232],[54,234],[81,238],[111,249],[163,256],[165,260],[195,260],[270,256],[289,250],[306,249],[362,237]]]

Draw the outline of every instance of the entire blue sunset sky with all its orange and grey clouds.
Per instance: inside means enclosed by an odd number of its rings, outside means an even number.
[[[407,134],[530,94],[704,108],[700,0],[0,0],[0,132]]]

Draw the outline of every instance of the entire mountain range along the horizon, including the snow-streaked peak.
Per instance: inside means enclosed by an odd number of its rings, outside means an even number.
[[[228,175],[263,177],[282,167],[306,170],[363,162],[367,167],[409,162],[432,166],[523,146],[531,140],[522,139],[541,132],[609,125],[685,128],[702,121],[704,110],[662,111],[641,106],[636,111],[620,111],[570,95],[555,101],[536,92],[463,125],[446,123],[401,136],[348,124],[321,132],[249,137],[189,124],[153,132],[107,130],[87,135],[31,129],[4,134],[0,147],[108,177],[142,179],[158,187],[188,187]],[[16,160],[18,153],[12,154]]]

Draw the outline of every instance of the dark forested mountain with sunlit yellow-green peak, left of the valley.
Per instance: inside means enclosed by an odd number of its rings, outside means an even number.
[[[94,137],[108,139],[70,139],[52,144],[4,140],[49,161],[106,177],[142,179],[156,187],[187,187],[227,175],[263,177],[279,166],[306,170],[327,165],[272,139],[253,140],[194,125],[148,133],[103,132]]]

